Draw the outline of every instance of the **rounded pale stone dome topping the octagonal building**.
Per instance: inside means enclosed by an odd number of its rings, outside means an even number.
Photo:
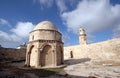
[[[56,26],[50,21],[42,21],[36,25],[34,30],[45,29],[45,30],[57,30]]]

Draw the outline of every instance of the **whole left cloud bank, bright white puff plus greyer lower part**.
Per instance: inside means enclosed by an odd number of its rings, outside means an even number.
[[[18,22],[15,28],[8,31],[10,33],[0,31],[0,43],[23,43],[33,27],[34,25],[31,22]]]

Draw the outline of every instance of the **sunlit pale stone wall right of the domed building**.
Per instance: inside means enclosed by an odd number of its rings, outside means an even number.
[[[64,47],[64,58],[90,58],[90,59],[120,59],[120,38],[87,44]]]

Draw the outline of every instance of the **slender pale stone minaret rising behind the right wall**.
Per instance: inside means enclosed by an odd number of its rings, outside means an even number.
[[[80,45],[87,44],[86,34],[85,34],[85,30],[83,28],[79,29],[79,43],[80,43]]]

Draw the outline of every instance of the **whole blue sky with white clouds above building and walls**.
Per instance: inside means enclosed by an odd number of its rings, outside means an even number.
[[[64,46],[77,45],[78,29],[88,43],[120,37],[120,0],[0,0],[0,44],[15,48],[28,42],[41,21],[53,22]]]

